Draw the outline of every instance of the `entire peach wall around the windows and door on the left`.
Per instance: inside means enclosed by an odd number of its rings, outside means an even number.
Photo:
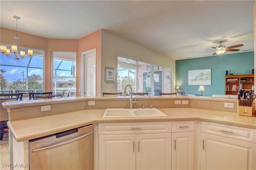
[[[13,36],[15,36],[16,31],[11,29],[6,29],[0,27],[0,42],[6,44],[13,44]],[[32,49],[39,49],[45,52],[44,59],[44,91],[52,90],[51,85],[51,52],[52,51],[72,51],[76,52],[76,62],[81,63],[81,53],[88,51],[90,49],[97,50],[97,84],[100,83],[100,30],[92,33],[81,39],[47,39],[44,37],[39,37],[36,35],[31,35],[28,33],[18,32],[18,37],[20,37],[20,43],[23,47],[29,47]],[[78,89],[81,89],[81,64],[77,64],[77,96],[81,94],[78,93]],[[97,95],[100,94],[100,85],[97,85]]]

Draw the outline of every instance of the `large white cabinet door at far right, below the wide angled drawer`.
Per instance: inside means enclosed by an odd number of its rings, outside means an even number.
[[[201,169],[252,170],[256,144],[202,133]]]

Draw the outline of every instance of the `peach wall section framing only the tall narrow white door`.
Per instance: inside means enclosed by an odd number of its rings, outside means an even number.
[[[77,60],[76,63],[82,62],[82,53],[96,49],[96,96],[100,96],[100,83],[101,83],[101,73],[100,73],[100,67],[101,67],[101,30],[98,30],[94,33],[91,33],[90,35],[87,35],[86,37],[83,37],[79,39],[78,41],[78,53],[77,53]],[[81,64],[76,64],[77,66],[77,78],[80,80],[82,79],[82,72],[81,72]],[[78,93],[78,89],[82,88],[82,83],[77,82],[77,96],[81,96],[81,93]]]

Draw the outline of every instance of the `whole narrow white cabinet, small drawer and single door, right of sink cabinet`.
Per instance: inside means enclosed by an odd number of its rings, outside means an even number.
[[[194,169],[194,121],[172,122],[172,170]]]

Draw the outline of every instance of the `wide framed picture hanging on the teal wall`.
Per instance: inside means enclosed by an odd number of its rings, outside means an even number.
[[[212,85],[211,68],[188,70],[188,85]]]

